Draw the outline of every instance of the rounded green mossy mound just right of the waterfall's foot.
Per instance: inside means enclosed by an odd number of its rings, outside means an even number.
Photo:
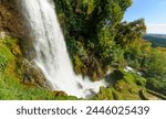
[[[141,100],[138,93],[146,84],[146,79],[142,76],[123,69],[115,69],[106,77],[106,82],[113,88],[114,99],[117,100]]]

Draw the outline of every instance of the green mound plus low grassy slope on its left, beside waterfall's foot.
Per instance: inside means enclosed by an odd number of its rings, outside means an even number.
[[[110,83],[110,86],[101,87],[100,93],[93,99],[143,99],[139,90],[145,88],[146,79],[135,73],[116,69],[106,77],[106,82]]]

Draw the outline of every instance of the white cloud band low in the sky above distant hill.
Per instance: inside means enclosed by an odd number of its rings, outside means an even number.
[[[147,24],[147,33],[166,34],[166,23],[165,24]]]

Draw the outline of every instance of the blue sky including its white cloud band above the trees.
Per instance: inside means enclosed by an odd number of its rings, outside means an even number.
[[[145,19],[147,33],[166,34],[166,0],[133,0],[124,20],[129,22],[139,18]]]

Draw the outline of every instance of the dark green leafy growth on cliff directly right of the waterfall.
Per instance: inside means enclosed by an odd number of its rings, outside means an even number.
[[[115,44],[116,26],[132,0],[54,0],[75,73],[104,78],[112,65],[123,63]],[[79,68],[80,67],[80,68]]]

